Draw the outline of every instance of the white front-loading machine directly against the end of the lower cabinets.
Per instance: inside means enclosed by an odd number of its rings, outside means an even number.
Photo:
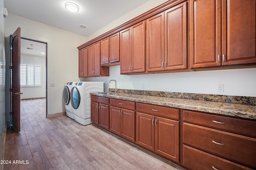
[[[104,92],[104,82],[76,82],[70,91],[74,119],[82,125],[91,124],[92,92]]]

